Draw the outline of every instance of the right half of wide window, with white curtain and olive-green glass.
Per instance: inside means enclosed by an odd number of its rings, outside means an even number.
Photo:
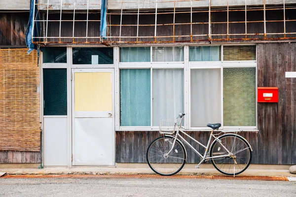
[[[256,46],[189,47],[190,127],[222,123],[223,127],[256,127]],[[206,54],[206,55],[204,55]],[[219,55],[220,54],[220,55]],[[208,64],[198,61],[208,60]],[[238,61],[249,61],[240,63]],[[208,68],[207,68],[208,67]]]

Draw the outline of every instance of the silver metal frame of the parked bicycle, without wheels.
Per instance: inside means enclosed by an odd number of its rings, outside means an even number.
[[[180,116],[178,116],[178,118],[179,118]],[[221,140],[218,138],[218,137],[216,137],[215,136],[215,134],[213,134],[213,131],[214,130],[212,130],[211,131],[211,134],[210,134],[210,137],[209,137],[209,141],[208,141],[208,144],[207,144],[207,146],[205,146],[205,145],[203,145],[202,143],[200,143],[199,141],[197,141],[196,139],[194,139],[193,137],[191,137],[190,135],[188,135],[187,133],[185,133],[182,129],[181,129],[181,124],[182,124],[182,121],[183,121],[183,117],[184,116],[182,116],[182,118],[181,118],[181,120],[180,120],[180,123],[179,123],[179,125],[178,125],[178,127],[177,127],[177,131],[176,131],[176,134],[175,135],[173,135],[172,137],[174,137],[175,139],[174,139],[174,142],[173,142],[173,145],[172,145],[172,148],[171,148],[171,150],[168,152],[168,153],[166,153],[166,154],[169,154],[172,150],[173,150],[173,147],[174,147],[174,145],[175,145],[175,143],[176,143],[176,140],[177,140],[177,138],[179,137],[180,139],[181,139],[181,141],[182,142],[185,142],[185,144],[187,144],[188,146],[189,146],[189,148],[191,149],[191,150],[193,150],[200,158],[201,158],[201,161],[199,162],[199,164],[197,164],[195,167],[197,167],[197,168],[199,168],[199,165],[200,164],[202,164],[206,159],[216,159],[216,158],[222,158],[222,157],[233,157],[233,155],[232,155],[232,153],[222,144],[222,142],[221,142]],[[177,118],[177,121],[178,121],[178,118]],[[183,133],[183,134],[185,134],[187,137],[189,137],[190,139],[192,139],[195,143],[198,143],[199,145],[201,145],[202,147],[204,147],[206,150],[205,150],[205,153],[204,153],[204,155],[202,155],[202,154],[200,154],[189,142],[187,142],[185,139],[184,139],[184,137],[182,137],[182,135],[180,135],[179,134],[179,132],[181,132],[181,133]],[[216,134],[217,135],[217,134]],[[224,154],[224,155],[220,155],[220,156],[214,156],[214,157],[207,157],[207,153],[210,151],[209,150],[209,146],[210,146],[210,142],[211,142],[211,139],[212,139],[212,137],[214,138],[214,141],[215,140],[217,140],[220,144],[221,144],[221,146],[227,151],[227,153],[228,154]],[[250,146],[251,147],[251,146]],[[187,158],[186,158],[187,159]],[[236,163],[236,161],[235,161],[235,163]]]

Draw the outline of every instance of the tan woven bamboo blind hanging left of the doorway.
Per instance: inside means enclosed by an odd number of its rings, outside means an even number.
[[[0,150],[40,151],[37,52],[0,49]]]

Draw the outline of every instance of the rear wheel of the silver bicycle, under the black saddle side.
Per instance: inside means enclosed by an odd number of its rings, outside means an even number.
[[[223,174],[237,175],[245,171],[252,160],[252,149],[249,143],[240,135],[233,133],[225,134],[219,137],[222,144],[235,157],[222,157],[211,159],[214,167]],[[224,151],[223,151],[224,150]],[[211,146],[210,157],[227,154],[221,144],[215,140]],[[237,164],[235,164],[234,160]]]

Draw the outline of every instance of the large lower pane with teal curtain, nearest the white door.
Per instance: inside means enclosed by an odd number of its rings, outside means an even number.
[[[150,126],[150,69],[120,70],[120,126]]]

